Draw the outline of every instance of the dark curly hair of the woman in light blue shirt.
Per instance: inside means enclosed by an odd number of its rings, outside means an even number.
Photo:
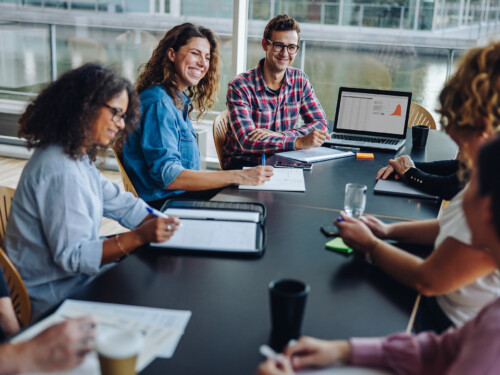
[[[19,118],[19,137],[28,149],[58,144],[76,160],[95,161],[107,147],[92,144],[92,130],[103,104],[127,91],[125,128],[114,140],[121,146],[139,121],[140,102],[132,84],[110,68],[89,63],[64,73],[28,105]]]

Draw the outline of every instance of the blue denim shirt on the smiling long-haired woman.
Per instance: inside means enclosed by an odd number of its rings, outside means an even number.
[[[147,202],[183,193],[165,188],[184,169],[200,169],[196,133],[188,117],[190,100],[184,93],[182,98],[180,110],[161,86],[140,94],[141,122],[123,147],[123,166]]]

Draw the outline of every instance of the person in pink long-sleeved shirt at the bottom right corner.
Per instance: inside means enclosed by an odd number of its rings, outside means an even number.
[[[500,117],[500,113],[498,114]],[[474,246],[491,252],[500,268],[500,137],[479,151],[477,167],[467,186],[463,209]],[[383,338],[326,341],[302,337],[285,349],[278,363],[263,362],[258,375],[291,375],[306,367],[337,362],[389,368],[396,374],[500,373],[500,299],[481,310],[459,329],[441,335],[398,333]]]

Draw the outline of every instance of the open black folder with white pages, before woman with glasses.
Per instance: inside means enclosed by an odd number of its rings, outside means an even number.
[[[262,203],[169,200],[161,211],[178,216],[180,227],[165,242],[151,243],[180,254],[259,257],[266,246],[266,207]]]

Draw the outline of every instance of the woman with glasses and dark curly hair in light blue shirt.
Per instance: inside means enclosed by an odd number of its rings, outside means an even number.
[[[146,203],[107,180],[98,153],[132,131],[139,101],[115,72],[86,64],[63,74],[28,106],[19,136],[35,148],[19,181],[3,247],[28,289],[36,318],[104,265],[166,241],[178,219],[148,215]],[[130,232],[99,238],[103,216]]]

